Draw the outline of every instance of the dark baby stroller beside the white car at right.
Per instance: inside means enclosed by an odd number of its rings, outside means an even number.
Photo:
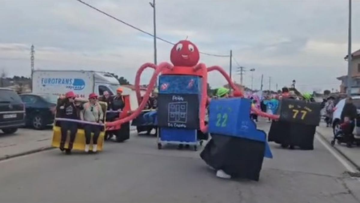
[[[357,119],[355,119],[355,129],[352,130],[351,125],[349,124],[347,126],[341,126],[340,124],[337,124],[334,128],[334,138],[331,141],[331,146],[334,146],[335,141],[337,140],[338,144],[346,143],[347,147],[352,147],[353,144],[356,144],[357,146],[360,146],[360,137],[357,135],[357,131],[360,133],[360,122],[357,122]],[[352,131],[351,131],[352,130]]]

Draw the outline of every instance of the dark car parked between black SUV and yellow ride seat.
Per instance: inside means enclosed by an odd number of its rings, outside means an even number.
[[[53,124],[56,110],[57,97],[40,94],[21,94],[26,107],[26,125],[42,130],[47,125]]]

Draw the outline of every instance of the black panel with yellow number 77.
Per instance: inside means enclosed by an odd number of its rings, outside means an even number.
[[[320,103],[283,99],[280,108],[280,121],[315,126],[319,125]]]

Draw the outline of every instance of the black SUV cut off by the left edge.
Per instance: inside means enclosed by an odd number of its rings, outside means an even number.
[[[18,94],[8,88],[0,88],[0,129],[15,133],[25,125],[25,106]]]

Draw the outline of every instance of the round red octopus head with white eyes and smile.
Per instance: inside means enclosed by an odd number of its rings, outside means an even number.
[[[170,60],[174,66],[195,66],[199,58],[198,48],[188,40],[176,43],[170,52]]]

